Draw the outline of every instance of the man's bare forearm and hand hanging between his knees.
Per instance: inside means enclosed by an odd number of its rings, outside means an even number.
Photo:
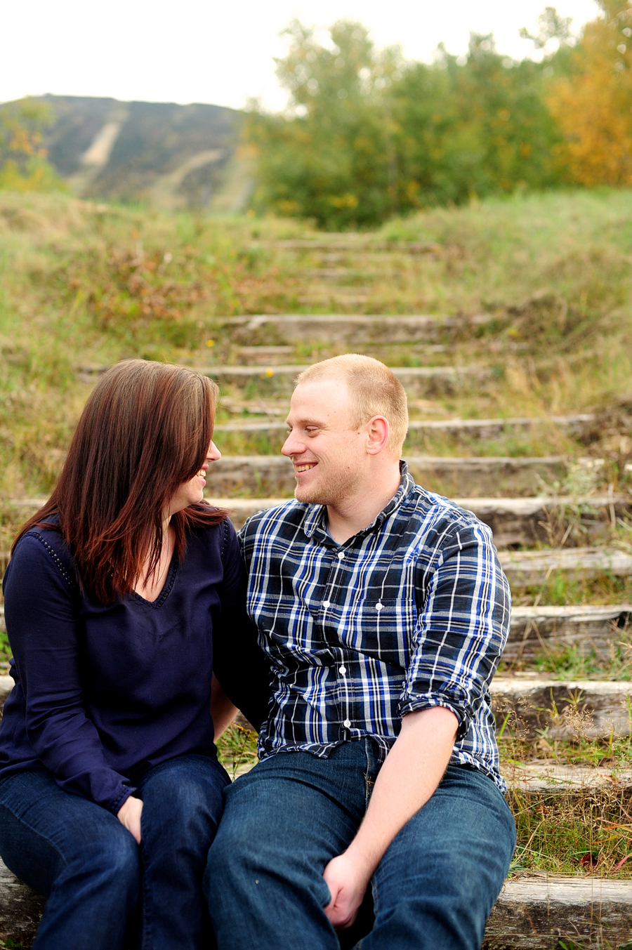
[[[332,895],[325,913],[335,927],[354,922],[386,849],[434,794],[450,762],[457,726],[455,714],[441,706],[410,712],[402,719],[353,842],[323,873]]]

